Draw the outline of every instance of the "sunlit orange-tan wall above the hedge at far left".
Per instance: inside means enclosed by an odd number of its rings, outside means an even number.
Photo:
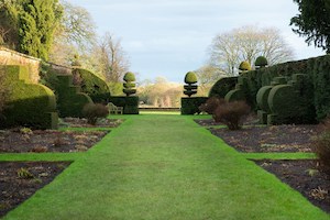
[[[0,46],[0,65],[20,65],[29,68],[29,79],[37,84],[41,59]]]

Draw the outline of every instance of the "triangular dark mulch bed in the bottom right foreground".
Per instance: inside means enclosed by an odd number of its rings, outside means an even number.
[[[330,176],[322,172],[316,160],[257,161],[256,164],[298,190],[315,206],[330,212]]]

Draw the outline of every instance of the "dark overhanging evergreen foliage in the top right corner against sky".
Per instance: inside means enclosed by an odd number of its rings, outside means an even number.
[[[330,2],[329,0],[294,0],[299,13],[292,18],[293,31],[306,37],[308,44],[327,50],[330,53]]]

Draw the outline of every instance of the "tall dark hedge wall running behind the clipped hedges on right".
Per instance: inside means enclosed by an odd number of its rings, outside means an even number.
[[[257,109],[255,97],[257,91],[264,86],[275,86],[278,82],[274,78],[282,77],[279,85],[284,81],[292,81],[294,75],[306,75],[302,90],[307,102],[312,105],[316,120],[321,121],[330,113],[330,55],[288,62],[248,72],[239,76],[245,79],[245,99],[253,109]],[[239,79],[240,80],[240,79]],[[305,100],[306,101],[306,100]],[[293,103],[292,107],[295,107]]]

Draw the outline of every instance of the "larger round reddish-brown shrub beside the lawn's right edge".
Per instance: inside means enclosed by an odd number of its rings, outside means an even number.
[[[224,102],[213,112],[216,122],[224,123],[229,130],[241,129],[240,122],[250,113],[250,106],[245,101]]]

